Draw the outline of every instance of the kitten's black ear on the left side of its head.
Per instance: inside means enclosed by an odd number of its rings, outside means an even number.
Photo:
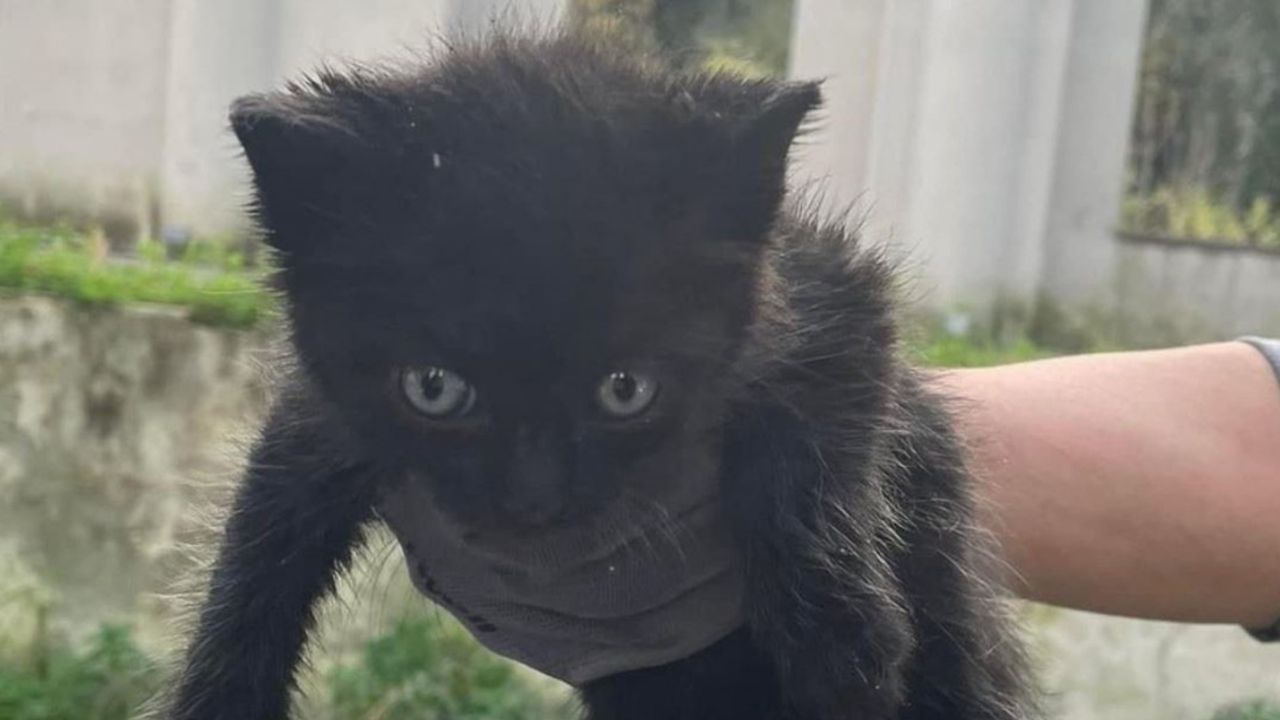
[[[257,188],[268,240],[278,250],[317,213],[337,214],[358,174],[361,141],[352,122],[325,99],[285,92],[232,104],[230,126]]]

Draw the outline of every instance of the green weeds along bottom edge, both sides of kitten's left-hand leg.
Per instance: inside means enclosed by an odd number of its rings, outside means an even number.
[[[164,684],[160,665],[128,628],[104,626],[83,650],[56,648],[0,664],[0,719],[128,720]],[[466,635],[426,615],[366,643],[325,676],[326,720],[549,720],[561,698]]]

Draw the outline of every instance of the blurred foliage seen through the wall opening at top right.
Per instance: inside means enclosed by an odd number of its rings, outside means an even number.
[[[1280,5],[1151,0],[1147,19],[1130,190],[1203,188],[1239,217],[1280,202]]]

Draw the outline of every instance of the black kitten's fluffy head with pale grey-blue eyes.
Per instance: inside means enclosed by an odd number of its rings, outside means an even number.
[[[813,85],[572,37],[239,100],[294,346],[364,452],[477,530],[714,471]]]

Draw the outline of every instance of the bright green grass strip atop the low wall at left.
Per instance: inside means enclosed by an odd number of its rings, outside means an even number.
[[[88,305],[173,305],[196,323],[230,328],[253,327],[271,309],[260,273],[224,246],[193,242],[166,260],[159,243],[146,242],[129,261],[106,260],[93,246],[86,233],[0,220],[0,287]]]

